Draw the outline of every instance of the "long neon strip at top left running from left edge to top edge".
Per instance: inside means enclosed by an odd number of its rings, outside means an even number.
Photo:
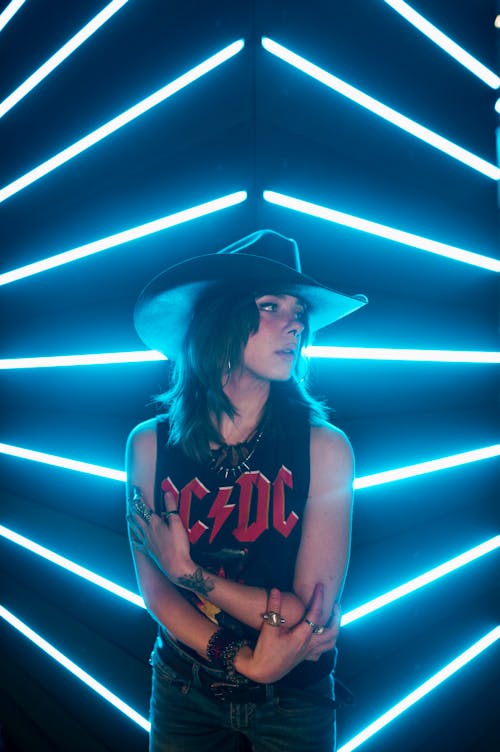
[[[75,34],[71,39],[66,42],[61,49],[59,49],[52,57],[43,63],[29,78],[24,81],[20,86],[15,89],[12,94],[0,102],[0,118],[2,118],[9,110],[11,110],[18,102],[21,101],[35,86],[47,78],[49,73],[57,68],[67,57],[69,57],[81,44],[83,44],[89,37],[92,36],[106,21],[108,21],[114,14],[123,8],[128,3],[128,0],[113,0],[109,5],[106,5],[97,16],[89,21],[80,31]],[[0,19],[1,21],[1,19]]]

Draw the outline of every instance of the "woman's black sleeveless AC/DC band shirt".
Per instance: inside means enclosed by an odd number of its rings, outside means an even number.
[[[191,460],[168,443],[168,422],[157,419],[155,511],[164,511],[164,494],[176,499],[188,531],[191,557],[219,577],[244,585],[293,592],[295,561],[310,476],[310,426],[294,421],[286,440],[264,430],[250,461],[250,470],[234,481]],[[234,619],[197,593],[178,588],[181,595],[221,627],[255,644],[258,632]],[[160,628],[161,638],[164,634]],[[201,661],[187,646],[186,652]],[[305,686],[330,673],[334,653],[317,662],[304,661],[284,680]]]

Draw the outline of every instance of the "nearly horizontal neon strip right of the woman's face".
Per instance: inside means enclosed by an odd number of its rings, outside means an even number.
[[[500,363],[500,352],[478,350],[414,350],[390,347],[335,347],[310,345],[304,353],[312,358],[335,360],[399,360],[416,363]],[[1,361],[0,361],[1,368]]]

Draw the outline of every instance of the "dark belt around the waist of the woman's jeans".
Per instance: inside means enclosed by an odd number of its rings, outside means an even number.
[[[160,650],[160,656],[165,660],[165,663],[182,679],[189,681],[193,678],[193,662],[188,658],[184,658],[177,650],[163,641],[163,645]],[[236,703],[253,703],[254,705],[260,705],[270,697],[285,697],[300,695],[301,697],[311,697],[318,705],[327,705],[330,708],[336,707],[336,702],[328,697],[322,697],[316,693],[307,692],[303,689],[294,689],[292,687],[286,687],[281,684],[259,684],[251,679],[247,679],[245,684],[233,684],[231,682],[225,682],[218,679],[209,671],[207,671],[202,665],[198,670],[198,680],[203,690],[211,694],[215,699],[220,702],[236,702]],[[271,691],[269,691],[271,688]]]

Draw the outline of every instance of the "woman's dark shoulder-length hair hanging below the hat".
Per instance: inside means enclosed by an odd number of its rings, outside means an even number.
[[[272,291],[217,287],[205,294],[193,312],[170,389],[155,398],[169,421],[169,443],[178,445],[196,461],[208,459],[210,442],[222,443],[217,426],[223,413],[230,418],[237,413],[222,384],[229,366],[238,367],[249,336],[259,328],[255,299],[270,292],[285,291],[275,286]],[[304,324],[302,347],[309,341],[307,306]],[[267,413],[271,430],[277,435],[289,436],[297,419],[305,419],[310,425],[327,420],[325,406],[307,391],[306,373],[307,361],[301,356],[288,381],[271,383]]]

